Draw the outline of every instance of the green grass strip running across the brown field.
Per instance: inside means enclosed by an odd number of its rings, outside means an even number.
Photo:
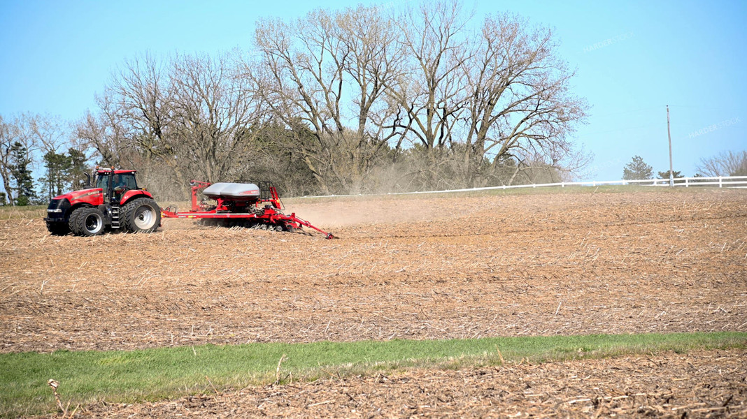
[[[208,344],[131,351],[2,353],[0,416],[53,412],[55,400],[48,379],[58,380],[63,402],[76,406],[97,400],[131,403],[210,392],[210,383],[217,388],[242,388],[276,382],[278,377],[290,382],[402,368],[500,365],[501,356],[506,362],[523,358],[550,362],[728,347],[747,347],[747,333]]]

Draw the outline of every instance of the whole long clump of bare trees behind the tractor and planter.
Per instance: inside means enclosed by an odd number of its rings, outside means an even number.
[[[297,179],[326,193],[480,186],[577,156],[568,134],[586,105],[568,92],[549,31],[499,16],[476,36],[459,0],[389,14],[261,20],[240,64],[130,60],[76,132],[107,164],[167,172],[169,189],[246,179],[251,163],[273,175],[303,164]]]

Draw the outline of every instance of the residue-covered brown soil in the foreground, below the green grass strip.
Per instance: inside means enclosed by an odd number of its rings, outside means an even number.
[[[136,405],[76,418],[746,418],[747,352],[323,379]],[[207,386],[208,384],[206,384]],[[57,416],[52,416],[57,417]]]

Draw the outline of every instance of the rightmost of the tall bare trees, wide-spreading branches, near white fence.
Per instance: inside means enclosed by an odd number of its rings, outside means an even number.
[[[527,28],[516,16],[486,17],[473,60],[462,66],[467,186],[485,186],[503,157],[518,160],[517,168],[537,162],[560,168],[562,160],[578,159],[568,134],[586,103],[568,92],[573,73],[555,54],[551,31]]]

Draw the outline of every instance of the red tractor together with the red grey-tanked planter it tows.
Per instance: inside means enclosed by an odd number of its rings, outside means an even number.
[[[95,188],[52,198],[44,218],[49,233],[76,236],[96,236],[107,230],[151,233],[161,226],[163,215],[164,218],[207,218],[205,221],[214,225],[264,230],[296,231],[309,227],[323,233],[326,239],[335,238],[295,213],[285,215],[271,182],[259,182],[257,186],[192,180],[192,209],[178,212],[176,207],[158,207],[150,192],[137,187],[135,173],[134,170],[97,168]],[[198,202],[200,191],[216,204],[208,204],[205,199]]]

